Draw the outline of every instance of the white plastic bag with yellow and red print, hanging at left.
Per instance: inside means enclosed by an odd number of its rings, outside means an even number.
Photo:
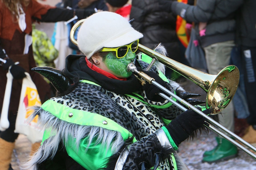
[[[38,115],[31,122],[27,120],[33,112],[30,107],[41,106],[41,100],[30,75],[27,72],[25,74],[27,77],[23,78],[22,81],[20,104],[14,132],[26,135],[32,143],[41,142],[44,131],[38,127]]]

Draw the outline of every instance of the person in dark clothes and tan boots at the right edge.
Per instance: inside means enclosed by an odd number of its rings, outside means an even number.
[[[244,71],[244,85],[250,115],[247,122],[250,125],[242,137],[246,142],[256,144],[256,109],[254,107],[256,85],[256,2],[244,0],[244,4],[237,12],[237,41],[241,47],[241,58]]]

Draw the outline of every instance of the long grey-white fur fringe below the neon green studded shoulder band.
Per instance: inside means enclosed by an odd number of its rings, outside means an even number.
[[[68,141],[69,137],[76,138],[77,148],[79,147],[81,139],[84,137],[88,137],[88,146],[92,144],[92,141],[95,141],[95,145],[101,144],[102,149],[106,147],[107,150],[111,149],[111,152],[113,153],[116,153],[124,145],[124,139],[120,132],[96,126],[69,123],[60,120],[51,113],[43,110],[41,107],[33,107],[33,109],[35,111],[29,119],[33,120],[36,115],[39,115],[39,126],[48,130],[51,129],[51,132],[56,133],[56,135],[49,137],[42,143],[39,150],[24,165],[25,169],[37,170],[40,163],[47,159],[53,159],[59,148],[59,144],[62,144],[64,141]],[[64,147],[64,145],[62,145],[62,147]]]

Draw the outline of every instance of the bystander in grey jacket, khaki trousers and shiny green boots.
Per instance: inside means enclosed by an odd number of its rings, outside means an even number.
[[[235,46],[235,11],[241,4],[243,0],[197,0],[195,6],[171,0],[159,1],[163,11],[180,15],[188,22],[195,22],[196,35],[204,48],[207,70],[213,75],[230,63],[231,50]],[[220,124],[234,132],[232,101],[222,113],[218,114]],[[216,141],[218,145],[213,150],[204,152],[203,162],[212,163],[236,157],[236,146],[221,136],[216,137]]]

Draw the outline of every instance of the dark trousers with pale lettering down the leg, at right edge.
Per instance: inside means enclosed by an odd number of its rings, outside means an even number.
[[[251,125],[256,125],[256,107],[254,103],[256,96],[256,47],[242,46],[241,51],[243,56],[245,91],[250,111],[247,122]]]

